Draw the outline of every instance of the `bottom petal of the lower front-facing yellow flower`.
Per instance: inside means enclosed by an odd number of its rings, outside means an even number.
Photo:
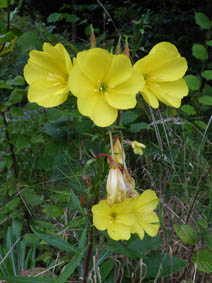
[[[129,240],[130,238],[130,226],[126,226],[121,223],[112,223],[107,229],[108,235],[115,241]]]

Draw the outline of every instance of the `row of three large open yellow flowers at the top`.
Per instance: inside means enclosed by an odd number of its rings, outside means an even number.
[[[186,59],[169,42],[156,44],[134,66],[125,54],[103,48],[78,52],[72,64],[62,44],[44,43],[43,51],[30,52],[24,77],[30,102],[54,107],[71,92],[79,112],[106,127],[117,119],[118,110],[136,106],[139,91],[153,108],[159,106],[158,101],[179,107],[188,94],[183,79],[186,70]]]

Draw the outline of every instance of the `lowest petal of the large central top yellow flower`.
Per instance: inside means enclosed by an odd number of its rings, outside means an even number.
[[[111,107],[103,96],[99,95],[93,113],[90,116],[93,122],[99,127],[107,127],[113,124],[117,116],[118,110]]]

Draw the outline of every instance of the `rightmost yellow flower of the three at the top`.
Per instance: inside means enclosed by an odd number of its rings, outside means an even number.
[[[135,63],[134,69],[142,75],[141,80],[145,79],[145,86],[140,90],[151,107],[158,108],[158,101],[180,107],[181,99],[188,94],[188,87],[182,79],[187,62],[173,44],[156,44],[147,56]]]

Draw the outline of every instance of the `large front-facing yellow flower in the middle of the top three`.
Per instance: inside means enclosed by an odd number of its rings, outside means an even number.
[[[101,48],[79,52],[69,77],[79,112],[100,127],[110,126],[118,109],[134,108],[143,85],[144,79],[126,55],[113,55]]]

